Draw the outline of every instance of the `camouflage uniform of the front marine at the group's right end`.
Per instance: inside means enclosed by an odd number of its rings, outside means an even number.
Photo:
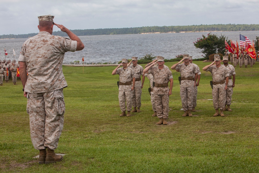
[[[227,72],[227,68],[224,65],[220,65],[219,68],[216,65],[212,65],[208,67],[206,72],[209,71],[212,74],[212,81],[213,82],[220,82],[225,80],[226,77],[229,76]],[[212,99],[213,99],[213,106],[215,109],[224,109],[225,101],[226,101],[226,91],[225,91],[226,81],[222,84],[213,84],[212,89]]]

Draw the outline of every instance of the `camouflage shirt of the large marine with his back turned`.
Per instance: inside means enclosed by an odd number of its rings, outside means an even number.
[[[76,46],[77,41],[53,36],[46,31],[26,40],[19,57],[28,68],[24,91],[42,93],[67,87],[62,62],[65,52],[75,52]]]

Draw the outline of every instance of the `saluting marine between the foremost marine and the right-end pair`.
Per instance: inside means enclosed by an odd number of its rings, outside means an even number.
[[[192,116],[193,94],[198,77],[197,68],[189,62],[189,59],[189,54],[184,54],[183,59],[171,67],[172,70],[176,70],[181,74],[180,95],[184,110],[182,116]],[[183,60],[184,63],[182,63]],[[195,78],[193,78],[193,76],[195,76]]]

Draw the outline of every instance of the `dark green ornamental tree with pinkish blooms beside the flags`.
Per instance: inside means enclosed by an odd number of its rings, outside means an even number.
[[[225,40],[227,39],[222,34],[218,37],[216,34],[208,33],[207,37],[202,35],[202,38],[198,38],[197,41],[193,42],[193,44],[196,49],[201,49],[201,52],[205,55],[204,57],[208,59],[209,55],[213,53],[221,53],[224,55]],[[228,40],[227,42],[230,43]]]

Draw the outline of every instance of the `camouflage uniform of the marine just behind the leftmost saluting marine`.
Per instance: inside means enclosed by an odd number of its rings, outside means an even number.
[[[133,65],[129,66],[133,69],[135,74],[135,87],[132,90],[132,106],[135,108],[140,108],[141,106],[141,76],[144,75],[143,67],[137,64],[135,67]]]

